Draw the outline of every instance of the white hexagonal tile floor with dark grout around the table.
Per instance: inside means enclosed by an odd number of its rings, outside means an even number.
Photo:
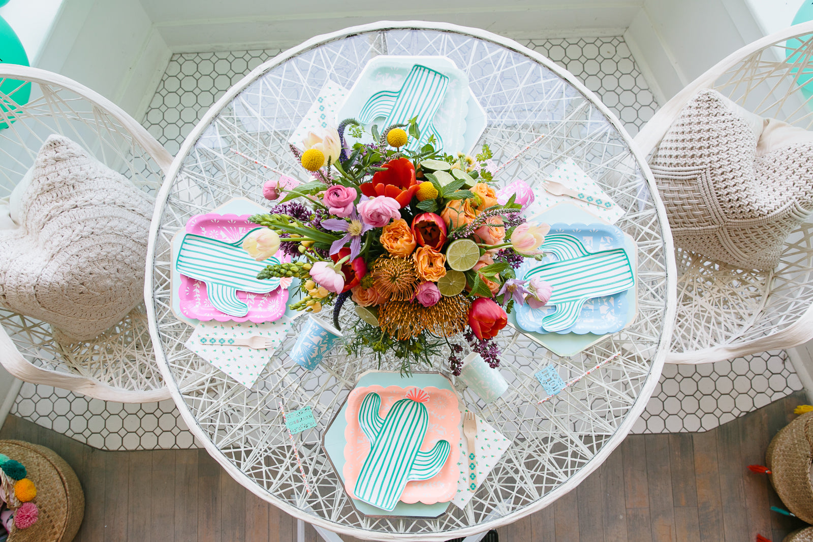
[[[567,68],[635,135],[658,104],[623,37],[523,43]],[[176,154],[200,116],[237,80],[280,50],[174,54],[144,126]],[[705,431],[802,389],[785,352],[701,366],[667,365],[633,432]],[[191,448],[172,401],[122,405],[24,384],[12,414],[101,449]]]

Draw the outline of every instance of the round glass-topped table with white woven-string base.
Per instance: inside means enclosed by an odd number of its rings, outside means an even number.
[[[580,336],[584,349],[557,348],[516,327],[498,336],[500,371],[509,388],[486,404],[450,376],[469,410],[510,440],[463,507],[437,518],[372,517],[347,496],[322,437],[359,375],[379,367],[334,348],[315,371],[287,351],[302,320],[276,349],[253,388],[246,388],[185,347],[194,322],[172,310],[172,238],[193,215],[235,197],[267,206],[267,168],[302,177],[289,139],[330,81],[350,89],[370,59],[441,56],[468,78],[485,111],[487,143],[502,170],[499,185],[539,184],[562,163],[575,164],[623,215],[615,222],[637,249],[637,312],[620,332]],[[472,102],[473,103],[473,102]],[[470,108],[471,109],[471,108]],[[540,137],[543,136],[543,137]],[[517,156],[519,155],[519,156]],[[516,157],[516,158],[515,158]],[[211,107],[182,145],[159,193],[146,283],[156,356],[180,413],[209,453],[242,485],[288,514],[329,531],[372,540],[448,540],[513,522],[576,488],[624,440],[657,384],[675,314],[675,265],[663,206],[643,158],[618,119],[571,74],[514,41],[473,28],[433,23],[377,23],[315,37],[250,72]],[[348,320],[349,321],[349,320]],[[563,379],[620,356],[551,401],[535,374],[553,364]],[[397,360],[380,369],[398,370]],[[438,359],[434,371],[448,375]],[[180,383],[180,384],[179,384]],[[316,427],[295,437],[299,468],[280,403],[310,406]],[[302,472],[308,482],[307,492]]]

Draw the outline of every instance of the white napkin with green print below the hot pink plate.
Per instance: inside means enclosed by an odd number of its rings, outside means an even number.
[[[263,372],[276,347],[285,339],[290,326],[290,320],[285,316],[276,322],[267,323],[201,322],[195,327],[185,346],[246,388],[251,388],[257,382],[259,374]],[[248,338],[254,335],[270,337],[271,348],[254,350],[248,346],[210,344],[212,340],[227,344],[229,339]]]

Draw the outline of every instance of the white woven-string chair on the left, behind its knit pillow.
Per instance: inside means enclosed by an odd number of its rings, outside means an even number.
[[[0,130],[0,197],[11,192],[33,164],[43,141],[59,133],[141,189],[155,193],[172,162],[167,150],[120,107],[76,81],[32,67],[0,64],[5,80],[29,81],[29,102],[6,112],[15,121]],[[0,103],[9,103],[0,93]],[[94,340],[70,347],[51,338],[47,323],[0,306],[0,363],[17,378],[120,402],[169,397],[154,365],[144,307],[133,310]]]

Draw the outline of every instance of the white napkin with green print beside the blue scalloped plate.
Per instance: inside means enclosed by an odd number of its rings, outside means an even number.
[[[611,197],[607,196],[606,193],[599,188],[596,181],[591,179],[572,159],[567,159],[559,164],[559,167],[557,167],[546,180],[554,180],[557,183],[565,185],[568,189],[584,193],[587,197],[593,197],[602,202],[609,202],[610,207],[595,206],[570,196],[554,196],[540,185],[534,190],[536,199],[524,212],[529,222],[533,222],[533,219],[537,218],[537,215],[541,215],[541,213],[558,203],[572,203],[575,206],[593,213],[593,215],[600,216],[611,224],[618,222],[618,220],[624,216],[624,212],[626,212],[613,202]]]

